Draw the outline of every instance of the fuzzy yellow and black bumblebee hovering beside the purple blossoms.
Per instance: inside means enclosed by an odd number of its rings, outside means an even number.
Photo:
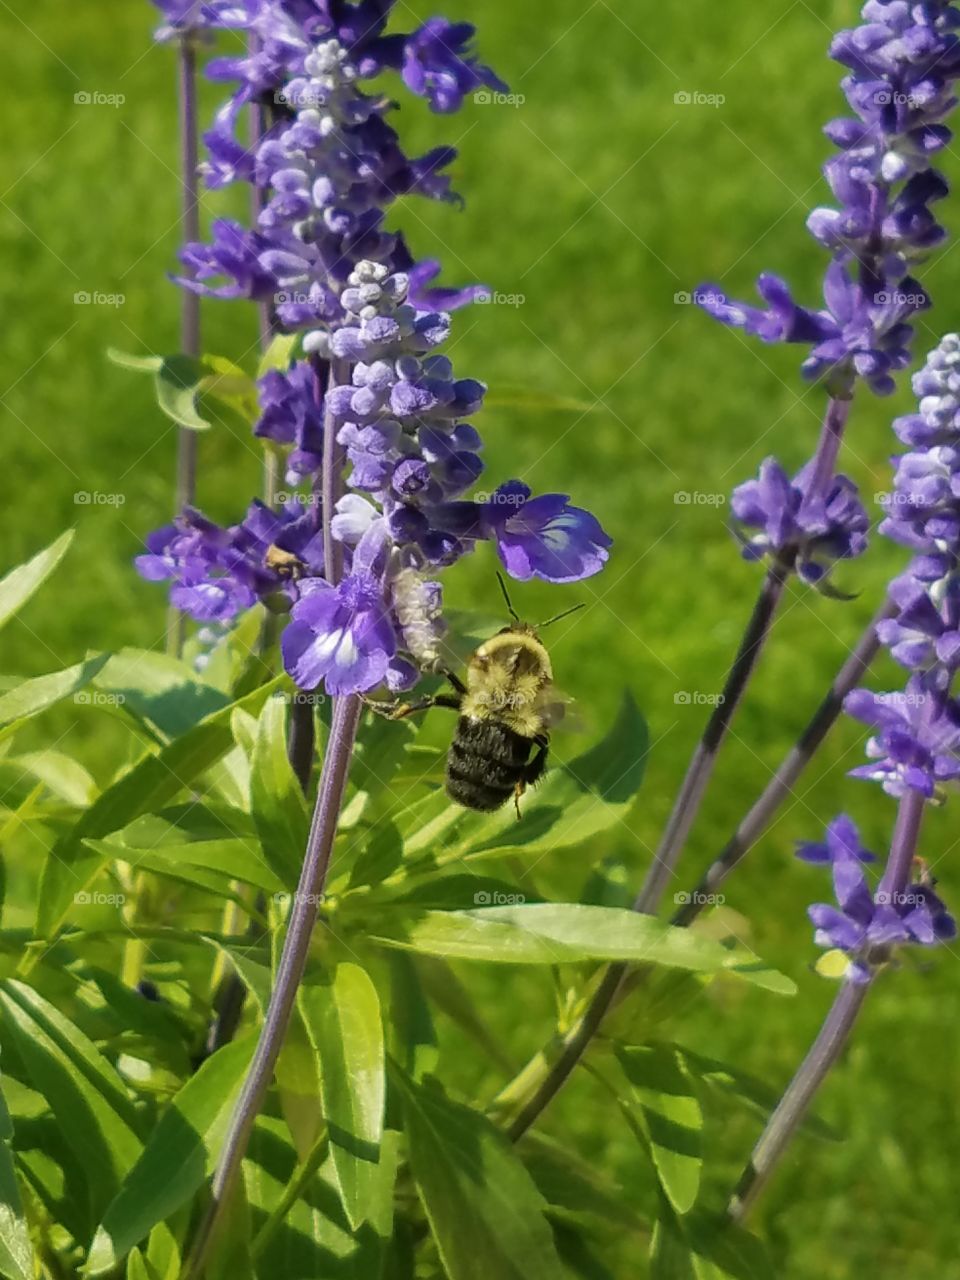
[[[512,622],[471,654],[466,680],[443,671],[452,694],[434,694],[398,705],[369,705],[388,719],[403,719],[431,707],[458,712],[447,754],[447,795],[480,813],[502,809],[513,797],[520,818],[520,797],[543,777],[550,730],[563,714],[563,701],[553,685],[550,655],[539,631],[582,605],[531,626],[517,617],[506,585],[499,581]]]

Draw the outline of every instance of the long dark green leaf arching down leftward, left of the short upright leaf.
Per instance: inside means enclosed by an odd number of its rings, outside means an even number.
[[[105,865],[102,855],[84,845],[127,827],[141,814],[168,804],[233,748],[230,714],[236,707],[259,712],[278,677],[230,707],[207,716],[195,728],[157,753],[142,756],[61,836],[44,864],[37,906],[37,933],[51,937],[67,916],[74,895],[84,890]]]

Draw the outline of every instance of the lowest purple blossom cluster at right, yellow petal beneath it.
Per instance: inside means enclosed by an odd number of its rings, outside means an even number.
[[[873,861],[873,854],[860,847],[856,827],[846,815],[827,828],[826,845],[804,845],[800,856],[832,867],[837,906],[817,902],[808,914],[817,945],[849,956],[849,980],[869,982],[899,943],[933,946],[956,936],[952,916],[925,877],[904,892],[870,890],[863,864]]]

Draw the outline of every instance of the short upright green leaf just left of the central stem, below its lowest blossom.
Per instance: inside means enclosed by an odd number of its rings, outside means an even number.
[[[282,883],[300,879],[310,832],[310,812],[287,759],[287,704],[269,698],[260,713],[250,774],[250,804],[264,856]]]

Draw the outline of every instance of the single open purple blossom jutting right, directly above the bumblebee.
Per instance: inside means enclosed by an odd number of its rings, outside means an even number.
[[[484,536],[495,539],[511,577],[579,582],[599,573],[612,539],[598,520],[571,507],[566,494],[530,494],[522,481],[509,480],[480,508]]]

